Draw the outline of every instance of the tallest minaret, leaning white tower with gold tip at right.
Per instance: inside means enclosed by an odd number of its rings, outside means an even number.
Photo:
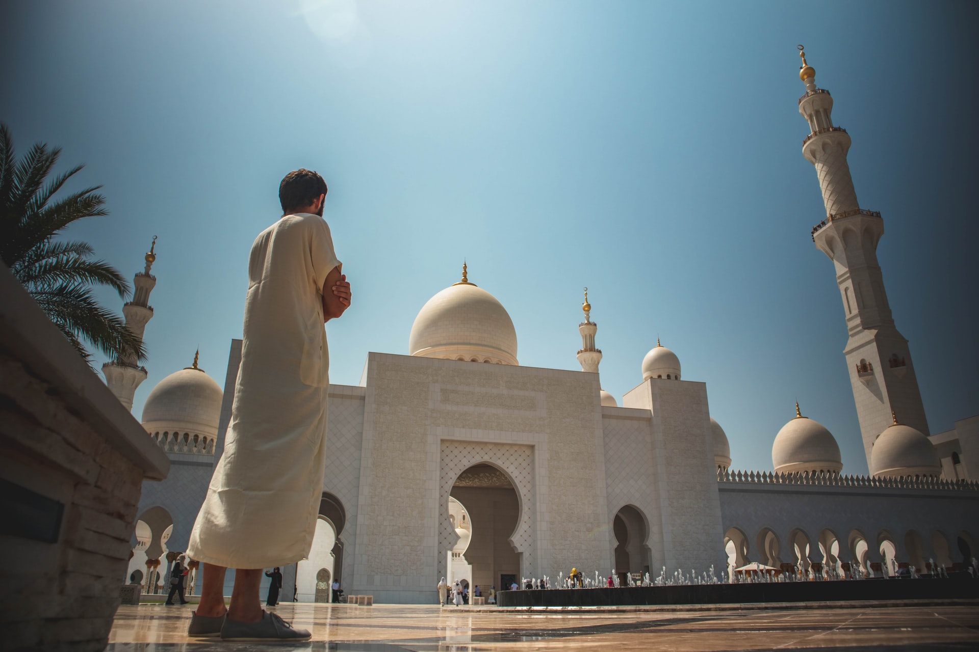
[[[913,428],[928,434],[928,421],[911,364],[908,340],[891,317],[884,278],[877,262],[877,243],[884,235],[880,213],[864,210],[847,164],[850,136],[833,126],[833,99],[816,87],[816,70],[806,63],[799,46],[802,69],[799,78],[806,93],[799,98],[799,112],[809,122],[809,136],[802,153],[816,166],[826,219],[814,227],[813,241],[829,256],[836,269],[836,283],[850,339],[844,354],[860,418],[867,464],[874,440],[891,425],[897,410]]]

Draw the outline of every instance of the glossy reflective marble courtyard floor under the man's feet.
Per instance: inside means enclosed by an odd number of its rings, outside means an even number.
[[[188,638],[191,608],[121,606],[111,652],[479,652],[483,650],[875,650],[979,649],[979,605],[753,609],[747,611],[453,612],[427,605],[282,604],[305,643],[224,643]]]

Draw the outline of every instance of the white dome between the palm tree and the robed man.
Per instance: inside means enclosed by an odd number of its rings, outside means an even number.
[[[146,398],[143,427],[148,432],[180,430],[216,437],[223,394],[202,369],[174,371]]]

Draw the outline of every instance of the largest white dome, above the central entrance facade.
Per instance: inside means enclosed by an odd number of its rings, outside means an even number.
[[[517,331],[510,315],[496,297],[465,279],[422,306],[411,326],[409,355],[517,365]]]

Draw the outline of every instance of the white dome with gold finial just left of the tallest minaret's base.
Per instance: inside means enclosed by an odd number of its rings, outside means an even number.
[[[776,473],[843,470],[840,447],[826,428],[811,418],[799,414],[782,426],[771,445],[771,463]]]

